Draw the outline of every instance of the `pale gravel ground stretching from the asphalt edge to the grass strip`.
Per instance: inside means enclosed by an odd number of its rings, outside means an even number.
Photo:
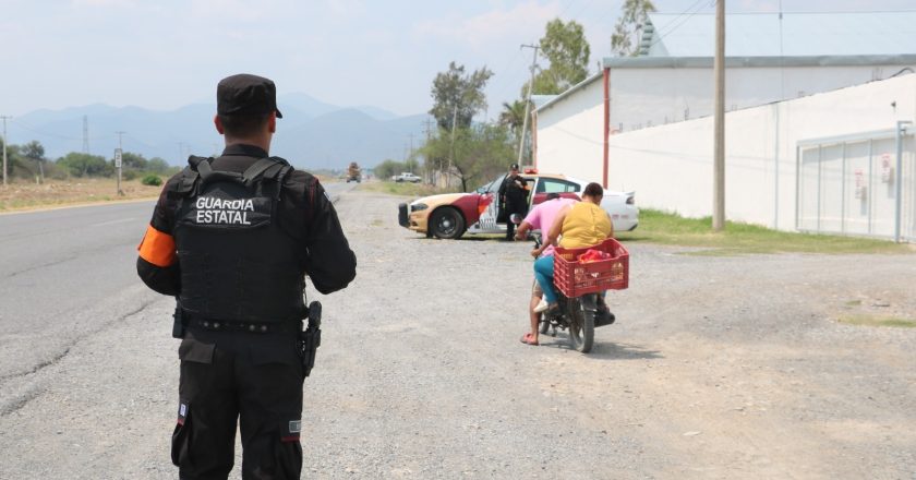
[[[519,343],[529,243],[426,239],[400,201],[337,204],[359,271],[312,298],[303,478],[916,479],[916,329],[836,321],[916,317],[916,256],[634,242],[618,321],[583,356],[563,333]],[[171,304],[124,295],[135,313],[17,381],[43,394],[0,416],[0,478],[177,477]]]

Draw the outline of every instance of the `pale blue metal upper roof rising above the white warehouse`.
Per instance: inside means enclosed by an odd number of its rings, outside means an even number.
[[[715,15],[650,13],[639,55],[712,57]],[[916,53],[916,10],[897,12],[730,13],[727,57]]]

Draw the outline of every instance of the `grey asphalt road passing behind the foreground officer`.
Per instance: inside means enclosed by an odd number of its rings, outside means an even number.
[[[159,300],[134,267],[154,204],[0,215],[0,415],[39,394],[31,374]]]

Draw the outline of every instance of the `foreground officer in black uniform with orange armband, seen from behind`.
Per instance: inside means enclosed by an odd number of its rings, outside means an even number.
[[[169,179],[138,248],[140,277],[178,300],[171,458],[181,479],[227,478],[237,421],[243,479],[300,478],[302,383],[321,338],[304,276],[322,293],[355,277],[321,183],[268,155],[278,118],[270,80],[219,82],[214,123],[226,149]]]

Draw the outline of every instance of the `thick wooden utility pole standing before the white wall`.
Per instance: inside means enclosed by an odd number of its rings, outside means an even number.
[[[715,120],[712,229],[725,228],[725,0],[715,2]]]

